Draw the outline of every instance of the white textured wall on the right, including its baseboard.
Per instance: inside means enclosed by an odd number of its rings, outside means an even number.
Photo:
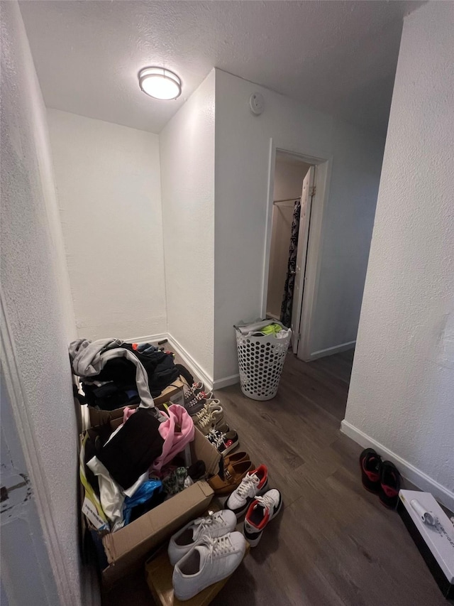
[[[454,509],[454,6],[404,21],[344,431]]]

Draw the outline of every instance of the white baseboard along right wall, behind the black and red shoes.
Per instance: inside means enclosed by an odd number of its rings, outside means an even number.
[[[414,465],[411,465],[411,463],[402,459],[402,457],[399,457],[399,455],[393,453],[392,450],[389,450],[384,445],[380,444],[380,442],[371,438],[370,435],[367,435],[367,433],[364,433],[357,427],[351,425],[351,423],[348,423],[345,419],[341,423],[341,431],[356,443],[360,444],[362,448],[375,448],[377,453],[386,457],[387,460],[392,461],[407,480],[424,492],[431,492],[433,496],[445,507],[448,507],[451,512],[454,511],[454,492],[450,492],[450,490],[436,482],[436,480],[433,480],[423,471],[414,467]]]

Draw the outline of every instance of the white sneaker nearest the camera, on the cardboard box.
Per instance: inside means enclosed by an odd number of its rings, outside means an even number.
[[[211,539],[203,536],[173,570],[173,589],[179,600],[197,593],[233,573],[243,560],[246,541],[240,532]]]

